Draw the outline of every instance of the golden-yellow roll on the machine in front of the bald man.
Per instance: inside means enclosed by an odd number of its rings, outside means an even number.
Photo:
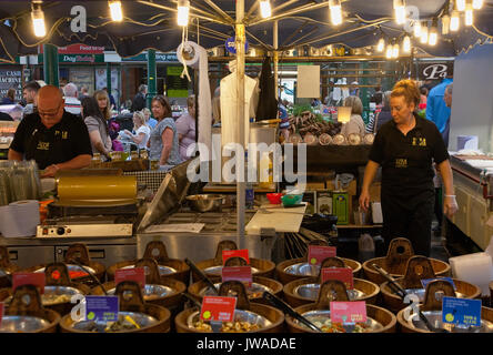
[[[135,176],[62,176],[58,180],[60,201],[135,200]]]

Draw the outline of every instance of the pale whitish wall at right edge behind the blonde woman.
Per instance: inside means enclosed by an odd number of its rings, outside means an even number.
[[[493,152],[493,44],[476,45],[455,59],[449,150],[457,135],[477,135],[479,148]]]

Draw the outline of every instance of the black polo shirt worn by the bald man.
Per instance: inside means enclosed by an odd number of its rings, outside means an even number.
[[[67,111],[51,129],[42,124],[38,113],[27,115],[19,124],[10,148],[23,153],[26,160],[36,160],[41,170],[80,154],[92,155],[85,123]]]

